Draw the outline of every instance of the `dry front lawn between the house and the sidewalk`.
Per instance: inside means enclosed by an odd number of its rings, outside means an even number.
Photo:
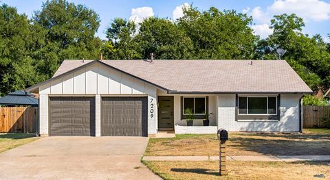
[[[227,155],[330,155],[330,129],[302,134],[230,133]],[[151,138],[144,155],[219,155],[216,134]]]

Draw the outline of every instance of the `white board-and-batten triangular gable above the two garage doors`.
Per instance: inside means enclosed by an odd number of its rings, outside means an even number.
[[[102,64],[91,64],[39,87],[40,94],[156,94],[155,86]]]

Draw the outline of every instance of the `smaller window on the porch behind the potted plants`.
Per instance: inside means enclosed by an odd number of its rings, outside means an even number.
[[[184,97],[183,114],[186,110],[192,110],[194,114],[205,114],[206,98],[205,97]]]

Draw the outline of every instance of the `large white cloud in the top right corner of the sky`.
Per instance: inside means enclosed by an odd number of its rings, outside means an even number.
[[[257,6],[250,15],[259,23],[270,23],[276,14],[295,13],[304,21],[325,21],[330,19],[330,3],[320,0],[276,0],[263,10]]]

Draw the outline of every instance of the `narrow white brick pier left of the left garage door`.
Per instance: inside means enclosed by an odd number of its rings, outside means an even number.
[[[48,94],[39,96],[39,133],[48,134]]]

